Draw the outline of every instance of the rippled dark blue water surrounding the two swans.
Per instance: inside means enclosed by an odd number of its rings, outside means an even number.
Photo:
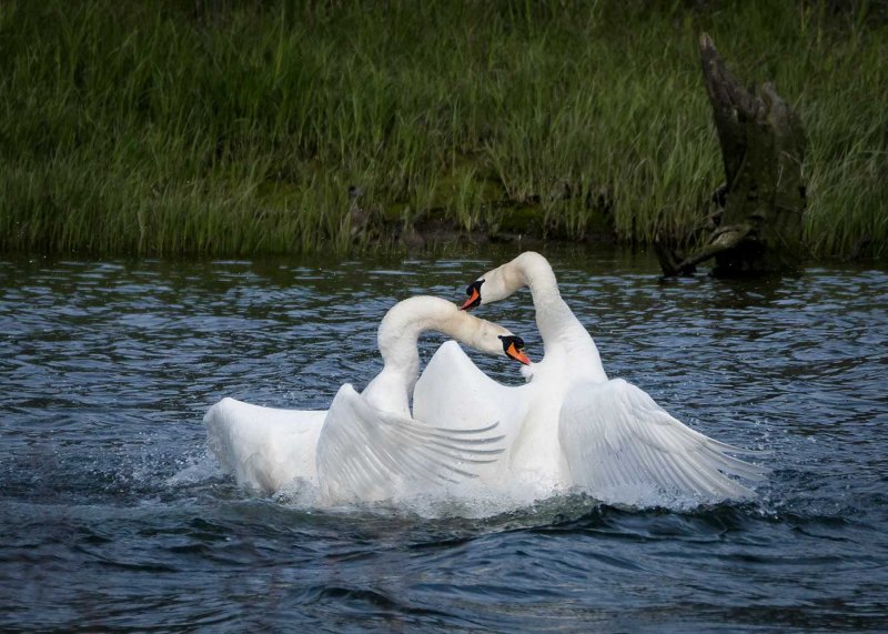
[[[773,452],[754,503],[320,511],[240,491],[213,466],[201,423],[213,402],[326,407],[379,371],[391,304],[458,300],[508,255],[0,261],[0,628],[886,628],[884,271],[663,283],[645,255],[552,254],[612,376]],[[539,356],[526,292],[478,314]],[[425,339],[424,358],[442,341]],[[513,364],[473,358],[521,382]]]

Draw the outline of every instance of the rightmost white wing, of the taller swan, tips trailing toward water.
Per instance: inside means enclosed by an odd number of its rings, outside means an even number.
[[[730,454],[755,454],[682,424],[620,379],[572,389],[558,437],[573,481],[596,497],[628,504],[663,494],[700,501],[754,493],[729,476],[761,480],[768,470]]]

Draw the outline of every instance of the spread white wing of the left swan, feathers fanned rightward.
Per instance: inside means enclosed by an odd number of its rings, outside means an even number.
[[[350,385],[330,406],[317,442],[317,477],[332,502],[373,502],[473,477],[503,452],[497,423],[454,430],[380,411]]]

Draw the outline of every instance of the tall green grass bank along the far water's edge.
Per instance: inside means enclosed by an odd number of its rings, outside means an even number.
[[[888,256],[882,3],[313,4],[0,3],[0,249],[680,235],[723,179],[705,30],[801,115],[811,252]]]

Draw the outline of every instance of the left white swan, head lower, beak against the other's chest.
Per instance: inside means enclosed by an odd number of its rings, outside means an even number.
[[[450,429],[411,417],[408,396],[420,369],[420,334],[436,330],[487,354],[529,363],[524,342],[438,298],[416,296],[383,318],[384,365],[359,394],[340,388],[330,410],[297,411],[223,399],[204,416],[208,444],[242,486],[274,492],[294,480],[317,486],[327,503],[372,502],[422,491],[495,460],[496,422]],[[447,420],[441,412],[440,420]]]

